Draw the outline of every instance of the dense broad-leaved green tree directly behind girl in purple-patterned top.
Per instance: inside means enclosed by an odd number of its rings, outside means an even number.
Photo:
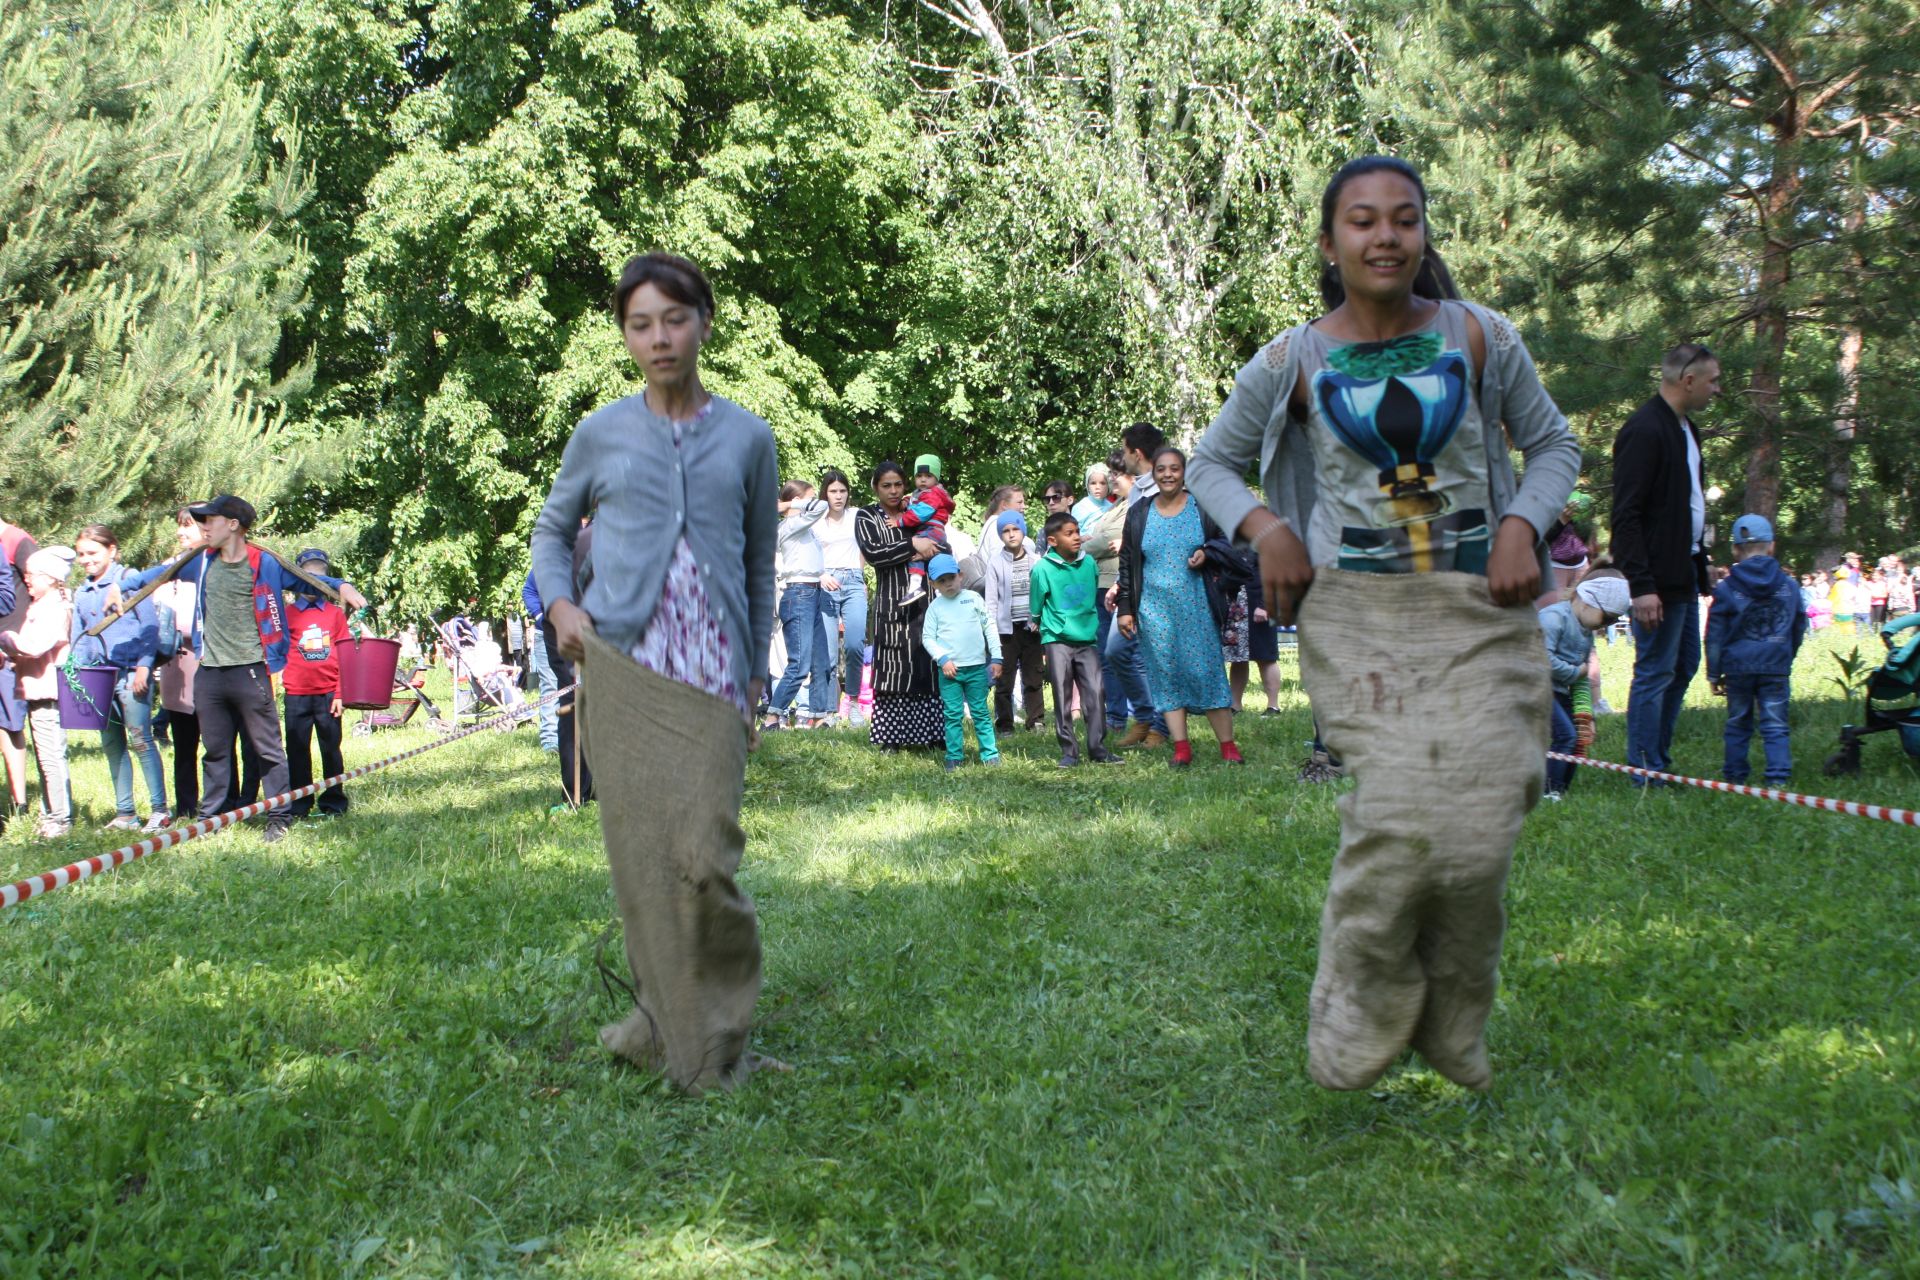
[[[851,464],[829,415],[889,340],[912,134],[849,25],[776,0],[444,0],[424,31],[342,276],[378,359],[338,391],[344,466],[313,503],[363,530],[384,599],[516,595],[566,434],[639,390],[607,299],[643,249],[714,276],[708,386],[774,424],[781,466]]]

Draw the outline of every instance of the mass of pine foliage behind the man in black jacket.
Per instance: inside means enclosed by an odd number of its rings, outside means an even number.
[[[1914,15],[1910,0],[1388,15],[1380,127],[1430,163],[1463,284],[1526,326],[1597,487],[1659,353],[1705,340],[1728,390],[1703,422],[1720,514],[1778,512],[1788,555],[1897,537],[1889,499],[1916,495],[1907,384],[1889,376],[1912,361],[1895,296],[1920,230],[1903,146]],[[1862,464],[1893,491],[1855,484]]]

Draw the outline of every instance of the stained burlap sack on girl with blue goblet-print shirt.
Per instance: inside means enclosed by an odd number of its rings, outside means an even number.
[[[1317,570],[1300,683],[1354,789],[1321,917],[1308,1071],[1365,1088],[1407,1046],[1486,1088],[1501,896],[1540,800],[1551,699],[1526,604],[1473,574]]]

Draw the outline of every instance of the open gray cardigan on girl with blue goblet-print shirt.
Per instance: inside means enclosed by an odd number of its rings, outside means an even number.
[[[1465,307],[1486,334],[1478,403],[1486,428],[1494,526],[1498,530],[1507,516],[1521,516],[1534,526],[1540,581],[1553,581],[1546,532],[1580,480],[1580,445],[1540,386],[1534,357],[1526,353],[1513,324],[1478,303],[1442,305]],[[1315,499],[1313,443],[1306,438],[1308,426],[1288,413],[1288,399],[1300,380],[1296,332],[1286,330],[1240,368],[1233,380],[1233,395],[1206,428],[1187,466],[1187,487],[1213,524],[1236,541],[1240,522],[1260,507],[1260,499],[1246,487],[1246,472],[1256,459],[1267,509],[1292,524],[1302,539],[1308,535]],[[1524,478],[1513,474],[1509,438],[1526,459]]]

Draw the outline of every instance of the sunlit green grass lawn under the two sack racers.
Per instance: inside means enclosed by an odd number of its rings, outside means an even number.
[[[1818,775],[1830,647],[1797,787],[1914,804],[1891,737]],[[1187,773],[770,739],[745,885],[795,1073],[728,1098],[599,1050],[599,833],[530,731],[0,913],[0,1276],[1920,1274],[1914,831],[1590,771],[1519,848],[1492,1094],[1327,1094],[1334,789],[1284,708],[1244,771],[1204,729]],[[90,835],[15,823],[0,877],[113,844],[75,762]]]

